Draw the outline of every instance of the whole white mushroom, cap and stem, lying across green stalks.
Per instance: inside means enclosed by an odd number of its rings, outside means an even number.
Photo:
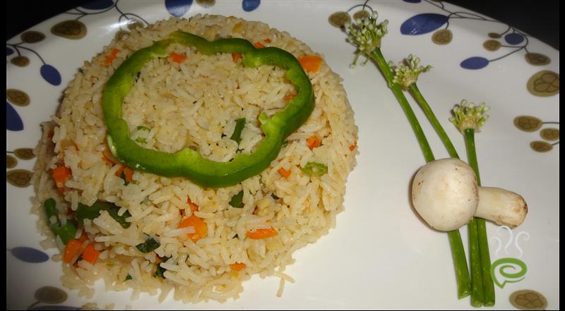
[[[460,228],[472,217],[514,228],[528,213],[521,195],[477,186],[475,171],[459,159],[439,159],[422,166],[412,182],[412,203],[429,226],[441,231]]]

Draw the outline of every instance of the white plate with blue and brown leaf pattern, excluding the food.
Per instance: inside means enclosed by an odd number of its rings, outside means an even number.
[[[9,178],[19,177],[25,184],[26,171],[34,164],[34,159],[17,159],[6,169],[6,306],[80,307],[95,302],[141,309],[470,308],[468,298],[456,298],[446,234],[430,230],[410,207],[410,178],[424,159],[403,111],[372,63],[349,67],[355,47],[328,22],[333,13],[352,8],[352,16],[373,9],[379,11],[379,18],[390,21],[382,47],[387,59],[397,62],[412,53],[434,66],[418,84],[464,159],[463,136],[448,122],[450,109],[463,98],[492,107],[489,121],[476,136],[482,183],[521,193],[530,211],[525,223],[511,232],[488,224],[492,261],[512,257],[527,267],[527,271],[518,266],[506,269],[518,273],[515,278],[504,278],[497,267],[497,281],[507,282],[504,288],[496,286],[496,308],[512,307],[511,294],[528,289],[542,294],[548,309],[559,309],[559,51],[509,25],[450,4],[369,1],[365,8],[358,4],[362,1],[122,0],[114,5],[112,0],[100,0],[8,40],[6,157],[14,158],[12,152],[18,148],[35,147],[40,122],[54,114],[77,69],[100,52],[129,18],[153,23],[197,13],[261,20],[323,53],[343,77],[355,110],[360,155],[347,182],[345,212],[338,216],[337,228],[296,253],[297,262],[287,269],[296,283],[287,283],[282,298],[275,296],[278,279],[254,277],[244,283],[239,300],[197,306],[178,303],[172,295],[163,305],[156,296],[131,301],[129,292],[105,292],[102,283],[88,301],[64,289],[60,264],[49,260],[57,250],[44,251],[49,257],[39,251],[36,217],[29,214],[32,187],[8,183]],[[59,24],[71,20],[83,23],[86,32],[76,22]],[[527,53],[539,55],[528,58]],[[18,54],[25,59],[16,59]],[[470,57],[476,58],[463,62]],[[21,66],[26,59],[27,66]],[[436,157],[447,157],[420,109],[415,111]],[[516,126],[518,116],[529,117]],[[524,126],[532,131],[521,130]],[[15,175],[13,170],[22,171]],[[467,244],[466,230],[461,232]],[[539,301],[531,303],[535,306]]]

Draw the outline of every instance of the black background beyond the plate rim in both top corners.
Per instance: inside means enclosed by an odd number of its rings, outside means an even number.
[[[221,1],[221,0],[218,0]],[[269,0],[263,0],[269,1]],[[270,0],[273,1],[273,0]],[[284,0],[275,0],[284,1]],[[374,0],[373,0],[374,1]],[[59,13],[90,2],[75,1],[6,1],[6,40]],[[542,42],[559,49],[559,1],[447,0],[471,11],[500,20]]]

